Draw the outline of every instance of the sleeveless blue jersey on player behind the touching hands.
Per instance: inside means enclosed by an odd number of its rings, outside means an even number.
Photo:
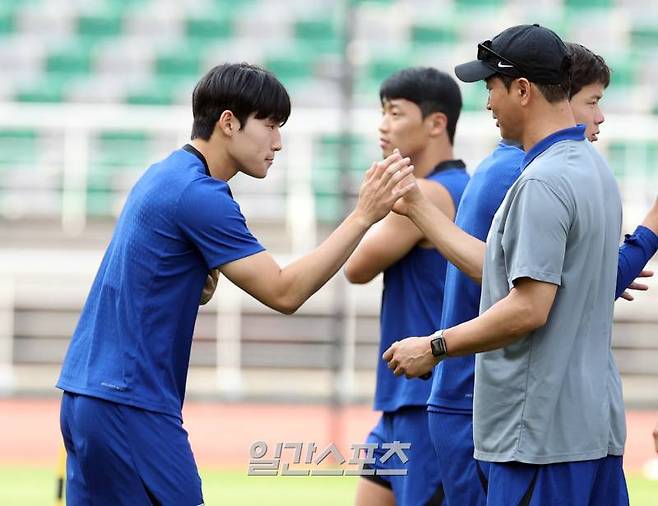
[[[449,160],[437,165],[427,179],[445,187],[457,208],[469,176],[462,161]],[[384,271],[380,357],[395,341],[428,335],[439,328],[445,273],[445,258],[434,248],[419,246]],[[424,406],[430,388],[429,381],[396,377],[382,359],[378,360],[376,410]]]

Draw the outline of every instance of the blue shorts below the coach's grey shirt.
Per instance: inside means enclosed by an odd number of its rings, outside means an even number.
[[[492,462],[487,506],[628,506],[622,457],[559,464]]]

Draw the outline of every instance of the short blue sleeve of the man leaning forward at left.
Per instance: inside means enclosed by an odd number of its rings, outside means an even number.
[[[210,178],[192,182],[180,197],[177,218],[209,269],[264,250],[225,183]]]

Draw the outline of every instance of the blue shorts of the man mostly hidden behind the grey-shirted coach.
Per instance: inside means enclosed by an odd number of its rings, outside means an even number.
[[[473,458],[473,416],[443,411],[427,415],[446,504],[484,506],[489,464]]]

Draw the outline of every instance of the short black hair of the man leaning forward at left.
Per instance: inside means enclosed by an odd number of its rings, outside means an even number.
[[[192,92],[192,139],[210,139],[226,110],[238,118],[240,129],[253,113],[256,119],[283,125],[290,116],[290,97],[271,72],[248,63],[225,63],[210,69]]]

